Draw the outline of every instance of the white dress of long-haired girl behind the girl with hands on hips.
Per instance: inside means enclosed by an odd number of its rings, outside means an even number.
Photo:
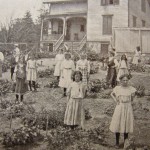
[[[126,61],[122,60],[119,64],[119,71],[118,71],[118,74],[117,74],[117,81],[120,81],[119,80],[120,76],[122,76],[124,74],[129,74],[129,71],[128,71],[128,65],[127,65]]]

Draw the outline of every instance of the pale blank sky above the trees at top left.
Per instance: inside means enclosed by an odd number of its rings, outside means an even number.
[[[30,11],[35,20],[42,8],[42,0],[0,0],[0,24],[7,24],[11,18],[22,18]]]

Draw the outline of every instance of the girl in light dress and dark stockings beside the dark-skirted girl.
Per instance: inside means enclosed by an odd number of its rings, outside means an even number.
[[[37,62],[33,54],[27,61],[27,81],[29,81],[30,91],[32,91],[32,85],[34,91],[36,91],[36,79],[37,79]]]

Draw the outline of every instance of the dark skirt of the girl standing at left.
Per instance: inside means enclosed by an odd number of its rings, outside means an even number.
[[[16,94],[25,94],[28,91],[28,85],[25,82],[25,79],[17,78],[16,79],[16,88],[15,93]]]

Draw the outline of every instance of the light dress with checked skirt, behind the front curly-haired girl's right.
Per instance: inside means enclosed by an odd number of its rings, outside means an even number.
[[[87,84],[88,74],[90,73],[90,63],[85,60],[78,60],[76,65],[76,71],[82,73],[82,82]]]

